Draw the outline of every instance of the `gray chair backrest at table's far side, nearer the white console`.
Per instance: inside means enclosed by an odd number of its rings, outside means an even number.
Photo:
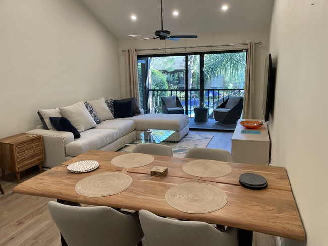
[[[208,148],[189,149],[185,155],[185,158],[234,162],[229,151]]]

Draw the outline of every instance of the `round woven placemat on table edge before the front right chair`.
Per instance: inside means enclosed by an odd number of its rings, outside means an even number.
[[[203,214],[223,208],[228,197],[224,191],[206,183],[183,183],[170,188],[166,202],[173,208],[191,214]]]

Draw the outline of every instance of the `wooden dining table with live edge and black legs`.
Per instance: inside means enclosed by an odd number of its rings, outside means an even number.
[[[190,158],[153,155],[155,160],[146,166],[120,168],[111,160],[123,152],[90,150],[59,166],[53,167],[16,186],[15,193],[55,198],[89,205],[101,205],[139,211],[146,209],[159,216],[204,221],[239,228],[239,245],[252,245],[252,232],[304,241],[305,231],[294,200],[288,175],[284,167],[227,163],[232,172],[224,177],[196,178],[182,169]],[[72,173],[67,165],[83,160],[99,162],[96,170]],[[206,161],[206,160],[204,160]],[[165,177],[150,175],[154,166],[168,167]],[[123,172],[132,177],[131,186],[118,194],[104,197],[86,197],[75,191],[83,178],[103,172]],[[243,173],[255,173],[266,178],[268,186],[262,190],[244,188],[239,183]],[[227,204],[214,212],[192,214],[171,207],[165,200],[166,192],[177,184],[201,182],[223,190]]]

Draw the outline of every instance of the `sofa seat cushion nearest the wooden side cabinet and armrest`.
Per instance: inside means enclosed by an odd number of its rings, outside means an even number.
[[[117,139],[117,131],[113,129],[89,129],[81,133],[81,137],[66,145],[66,154],[78,156],[91,149],[99,149]]]

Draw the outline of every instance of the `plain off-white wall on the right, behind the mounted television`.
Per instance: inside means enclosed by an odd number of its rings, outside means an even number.
[[[307,235],[282,245],[328,245],[328,1],[276,0],[271,25],[273,164],[286,167]]]

